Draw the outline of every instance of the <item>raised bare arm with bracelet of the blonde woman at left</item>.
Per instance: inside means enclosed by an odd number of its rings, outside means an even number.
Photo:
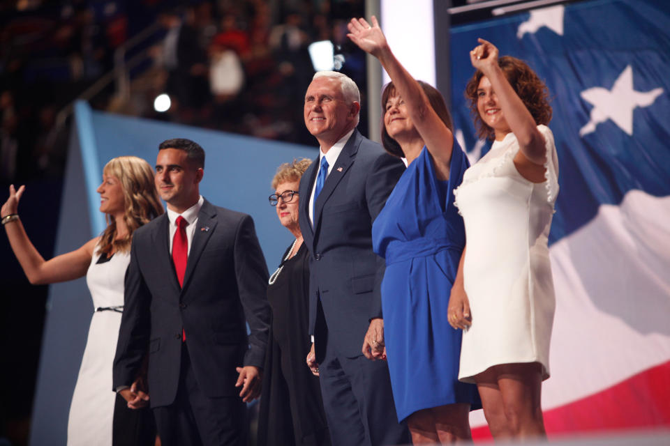
[[[9,198],[0,210],[1,217],[17,213],[24,191],[25,186],[15,190],[14,185],[10,185]],[[98,238],[94,238],[75,251],[45,261],[28,238],[21,220],[8,222],[4,228],[16,259],[21,264],[30,283],[34,285],[66,282],[84,276],[91,263],[96,243],[98,243]]]

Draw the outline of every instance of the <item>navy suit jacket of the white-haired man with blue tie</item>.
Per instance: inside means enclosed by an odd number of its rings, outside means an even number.
[[[372,223],[405,164],[354,130],[316,200],[312,227],[308,206],[318,166],[317,158],[300,180],[299,222],[310,252],[309,327],[319,361],[319,298],[327,335],[347,357],[362,354],[370,319],[382,316],[385,263],[372,250]]]

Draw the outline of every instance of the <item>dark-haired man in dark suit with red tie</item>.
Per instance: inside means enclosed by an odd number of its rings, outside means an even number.
[[[163,446],[246,445],[245,402],[260,394],[267,266],[251,217],[200,196],[203,168],[195,142],[159,146],[168,212],[135,231],[126,272],[114,390],[151,404]]]

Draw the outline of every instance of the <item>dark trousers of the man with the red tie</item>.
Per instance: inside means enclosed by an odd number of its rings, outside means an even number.
[[[244,446],[246,406],[239,397],[211,398],[193,375],[186,343],[181,347],[177,397],[154,408],[162,446]]]

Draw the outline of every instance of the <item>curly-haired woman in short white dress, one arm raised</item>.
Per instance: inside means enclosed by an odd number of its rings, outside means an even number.
[[[464,330],[459,379],[477,383],[493,437],[544,437],[556,306],[547,238],[558,194],[549,93],[526,63],[479,44],[466,97],[479,136],[495,141],[454,191],[466,249],[448,317]]]

